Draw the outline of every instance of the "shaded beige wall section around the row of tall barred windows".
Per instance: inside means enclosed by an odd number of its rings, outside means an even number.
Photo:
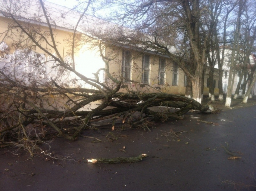
[[[123,51],[130,51],[131,54],[131,70],[130,70],[130,79],[132,82],[124,83],[121,87],[121,92],[129,91],[144,91],[144,92],[158,92],[158,90],[171,94],[181,94],[185,95],[186,87],[184,86],[185,74],[178,67],[178,83],[173,85],[173,61],[167,57],[162,57],[156,54],[146,54],[150,56],[150,72],[149,72],[149,83],[148,85],[142,84],[142,53],[136,51],[118,48],[118,47],[109,47],[106,50],[106,55],[113,60],[110,62],[110,73],[117,78],[118,80],[122,79],[122,61],[123,61]],[[145,53],[144,53],[145,54]],[[165,83],[160,85],[159,77],[159,61],[160,59],[165,59]],[[209,73],[209,70],[207,70]],[[209,93],[209,88],[206,87],[207,78],[209,78],[208,73],[206,72],[204,78],[204,94]],[[218,94],[218,74],[214,73],[214,79],[216,80],[215,93]]]

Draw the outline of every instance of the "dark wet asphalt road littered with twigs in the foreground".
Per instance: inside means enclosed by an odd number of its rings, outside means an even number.
[[[56,139],[51,150],[70,156],[65,161],[29,159],[28,154],[9,148],[0,149],[1,190],[234,190],[223,183],[256,185],[256,106],[234,109],[220,114],[194,114],[184,120],[157,123],[151,132],[139,130],[98,132],[88,130],[75,142]],[[206,124],[197,120],[218,123]],[[186,131],[166,137],[170,131]],[[108,135],[107,138],[105,138]],[[173,136],[173,135],[172,135]],[[112,137],[114,138],[114,137]],[[175,140],[175,141],[173,141]],[[231,157],[221,147],[240,156]],[[122,149],[126,146],[125,151]],[[9,152],[11,151],[11,152]],[[146,153],[137,163],[92,164],[91,158],[131,157]],[[29,160],[27,160],[29,159]],[[10,164],[13,165],[10,165]],[[6,171],[5,169],[8,169]],[[248,190],[246,187],[238,187]],[[255,187],[251,187],[255,190]]]

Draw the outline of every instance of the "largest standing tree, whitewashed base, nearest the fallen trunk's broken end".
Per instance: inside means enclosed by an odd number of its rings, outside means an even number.
[[[117,20],[134,30],[119,28],[114,30],[115,39],[104,34],[104,40],[112,43],[114,40],[116,43],[139,46],[168,55],[191,81],[193,99],[201,103],[208,36],[203,30],[203,16],[208,14],[206,2],[147,0],[120,3],[113,0],[107,1],[108,5],[109,2],[118,5],[121,10],[116,11],[111,20]]]

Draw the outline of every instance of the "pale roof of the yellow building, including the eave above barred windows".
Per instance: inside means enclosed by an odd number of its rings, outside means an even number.
[[[43,3],[47,12],[48,20],[52,27],[70,32],[75,29],[77,21],[82,15],[80,11],[66,8],[48,1],[43,1]],[[0,16],[11,18],[11,15],[19,21],[35,23],[48,27],[47,20],[38,0],[0,0]],[[116,23],[112,23],[89,14],[84,14],[78,23],[76,30],[92,37],[96,37],[97,31],[101,33],[105,32],[109,35],[113,35],[113,38],[115,38],[115,33],[117,33],[120,28],[122,28],[122,32],[124,34],[126,33],[127,36],[135,32],[133,29],[120,26]],[[154,39],[154,37],[150,36],[145,36],[145,38]],[[149,54],[159,54],[153,48],[145,49],[145,46],[143,45],[132,46],[126,42],[122,42],[120,44],[116,43],[115,45],[122,46],[124,48],[136,49],[137,51],[142,49]],[[178,50],[173,46],[169,47],[169,51],[173,54],[178,52]],[[168,57],[161,53],[159,55]]]

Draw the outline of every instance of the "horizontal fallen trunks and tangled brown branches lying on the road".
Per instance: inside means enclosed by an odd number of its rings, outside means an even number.
[[[183,114],[191,109],[211,112],[209,106],[180,95],[119,93],[120,84],[108,94],[93,89],[62,88],[55,82],[47,88],[14,83],[2,86],[1,147],[23,145],[30,148],[29,140],[36,142],[54,136],[76,140],[84,129],[94,128],[104,121],[112,124],[112,130],[116,123],[149,129],[156,120],[183,119]],[[93,104],[94,109],[89,109]],[[170,112],[168,108],[176,109]]]

